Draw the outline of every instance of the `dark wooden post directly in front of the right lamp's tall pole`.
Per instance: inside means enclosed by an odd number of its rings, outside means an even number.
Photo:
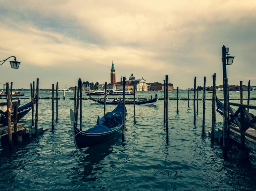
[[[223,145],[222,145],[222,154],[224,157],[227,156],[227,139],[228,139],[228,79],[224,79],[224,116],[223,116]]]

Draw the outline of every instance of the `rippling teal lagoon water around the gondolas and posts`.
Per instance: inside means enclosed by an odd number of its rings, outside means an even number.
[[[158,93],[158,98],[164,96]],[[179,91],[179,98],[187,98],[187,91]],[[202,97],[203,92],[199,92]],[[41,91],[41,97],[51,93]],[[247,92],[244,92],[246,98]],[[25,91],[26,97],[30,92]],[[223,98],[223,92],[217,92]],[[207,134],[202,135],[202,105],[196,124],[193,124],[193,101],[168,101],[169,145],[163,124],[163,100],[153,104],[136,105],[136,124],[133,117],[126,123],[125,142],[122,136],[86,149],[76,149],[71,137],[69,109],[73,109],[73,93],[59,100],[59,120],[51,131],[51,100],[39,100],[39,127],[49,130],[37,139],[31,138],[14,145],[0,143],[0,190],[255,190],[256,155],[250,153],[249,162],[238,160],[235,145],[222,157],[221,145],[211,145]],[[63,97],[63,93],[59,93]],[[86,97],[86,96],[84,96]],[[128,96],[127,96],[128,97]],[[132,97],[132,96],[129,96]],[[150,92],[136,92],[136,97],[150,97]],[[176,91],[169,92],[175,98]],[[193,92],[190,92],[190,98]],[[211,98],[206,93],[206,98]],[[230,92],[230,98],[239,98]],[[251,92],[256,98],[256,92]],[[1,100],[4,101],[4,100]],[[29,100],[21,100],[21,105]],[[233,101],[239,102],[239,101]],[[83,100],[83,129],[95,125],[103,115],[104,105]],[[211,101],[206,101],[205,132],[211,129]],[[256,105],[256,101],[250,101]],[[115,106],[107,105],[107,111]],[[133,105],[126,105],[133,113]],[[250,110],[250,112],[254,112]],[[56,117],[56,115],[55,115]],[[20,123],[31,123],[31,112]],[[217,113],[216,128],[223,119]]]

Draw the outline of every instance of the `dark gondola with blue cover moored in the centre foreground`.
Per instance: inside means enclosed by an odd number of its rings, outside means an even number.
[[[107,142],[118,134],[122,133],[123,127],[123,102],[120,100],[116,108],[112,112],[106,113],[102,118],[97,119],[97,124],[87,129],[80,131],[76,127],[75,116],[70,109],[70,120],[74,130],[74,143],[76,148],[82,149],[92,145]],[[127,111],[125,108],[125,121],[127,120]]]

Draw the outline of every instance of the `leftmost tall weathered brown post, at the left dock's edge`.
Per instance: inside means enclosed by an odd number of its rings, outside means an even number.
[[[6,83],[6,102],[7,102],[7,131],[9,150],[12,150],[12,133],[11,133],[11,99],[10,99],[10,83]]]

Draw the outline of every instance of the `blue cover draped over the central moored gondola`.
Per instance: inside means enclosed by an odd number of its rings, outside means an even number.
[[[122,124],[123,124],[123,103],[120,102],[116,108],[112,111],[112,112],[108,112],[106,113],[102,118],[99,118],[98,116],[98,119],[97,119],[97,124],[86,130],[86,131],[83,131],[83,132],[86,132],[86,133],[106,133],[106,132],[109,132],[109,131],[113,131],[113,127],[120,127]],[[125,108],[125,113],[127,113],[127,110]],[[108,124],[108,120],[115,120],[114,118],[117,118],[120,120],[119,124],[116,124],[114,125],[112,128],[111,127],[107,127],[106,125]],[[116,128],[114,128],[116,129]]]

